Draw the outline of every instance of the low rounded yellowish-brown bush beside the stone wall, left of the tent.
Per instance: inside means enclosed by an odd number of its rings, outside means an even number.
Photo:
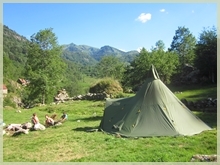
[[[112,78],[104,78],[99,80],[95,85],[90,87],[90,93],[107,93],[109,95],[116,95],[123,92],[121,84]]]

